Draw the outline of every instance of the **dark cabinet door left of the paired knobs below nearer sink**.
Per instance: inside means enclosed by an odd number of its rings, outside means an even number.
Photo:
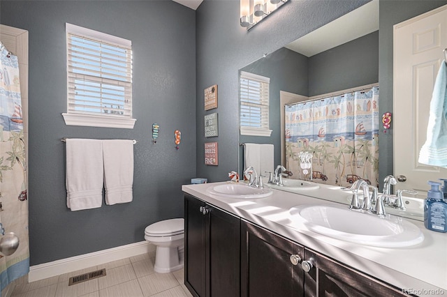
[[[241,229],[241,296],[303,296],[303,271],[291,256],[302,259],[304,248],[244,221]]]

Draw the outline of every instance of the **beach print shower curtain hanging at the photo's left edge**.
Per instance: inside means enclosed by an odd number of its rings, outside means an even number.
[[[14,232],[19,247],[0,253],[0,289],[29,272],[27,173],[19,63],[0,43],[0,238]]]

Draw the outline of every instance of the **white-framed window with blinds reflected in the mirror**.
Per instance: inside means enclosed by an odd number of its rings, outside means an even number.
[[[270,78],[253,73],[240,73],[240,134],[270,136]]]

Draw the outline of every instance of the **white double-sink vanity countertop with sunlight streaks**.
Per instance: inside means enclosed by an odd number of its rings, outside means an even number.
[[[447,294],[447,233],[427,230],[419,220],[404,219],[420,228],[425,236],[423,243],[407,248],[375,248],[340,241],[309,231],[289,215],[289,209],[294,206],[340,204],[274,189],[270,197],[262,199],[223,198],[206,192],[208,187],[224,183],[228,182],[182,185],[182,191],[379,280],[413,289],[418,296],[432,296],[430,290],[437,289]],[[322,186],[318,191],[323,197],[331,192],[339,196],[342,192],[339,187],[331,186]],[[342,198],[345,204],[344,200],[349,197],[351,194],[346,192]]]

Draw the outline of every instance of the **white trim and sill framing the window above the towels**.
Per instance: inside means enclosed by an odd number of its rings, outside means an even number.
[[[120,38],[117,36],[112,36],[106,33],[94,31],[91,29],[84,28],[82,26],[76,26],[73,24],[66,23],[66,36],[67,34],[76,34],[85,36],[86,38],[94,38],[103,43],[113,43],[117,45],[122,45],[124,47],[131,48],[132,43],[131,40],[126,40],[124,38]],[[68,52],[68,40],[66,54]],[[68,59],[68,58],[67,58]],[[66,71],[68,75],[68,60],[66,61]],[[68,80],[67,80],[67,92],[68,92]],[[136,119],[132,119],[130,117],[121,117],[121,116],[105,116],[105,115],[96,115],[96,114],[77,114],[77,113],[68,113],[68,93],[67,93],[67,112],[62,113],[64,117],[64,121],[66,125],[82,125],[88,127],[103,127],[103,128],[127,128],[133,129],[135,125]],[[133,105],[133,102],[131,102]],[[132,108],[133,109],[133,108]],[[133,113],[133,110],[132,110]]]

